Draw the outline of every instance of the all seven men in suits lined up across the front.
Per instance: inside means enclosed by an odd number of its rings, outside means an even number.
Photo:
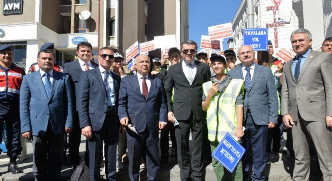
[[[330,180],[332,113],[328,105],[332,101],[332,85],[328,80],[332,74],[328,71],[332,68],[332,55],[311,50],[311,42],[311,33],[306,29],[295,30],[291,35],[297,55],[284,66],[281,115],[293,133],[293,179],[309,179],[308,145],[312,140],[324,179]],[[21,132],[33,142],[36,180],[59,180],[61,164],[57,159],[63,143],[61,135],[74,134],[70,144],[77,147],[80,132],[87,137],[86,156],[92,180],[100,177],[103,142],[106,175],[115,180],[119,129],[126,130],[130,179],[139,180],[140,158],[144,154],[148,180],[156,180],[158,131],[166,126],[167,120],[179,123],[175,126],[175,136],[180,179],[204,180],[209,153],[202,149],[208,141],[202,84],[210,81],[211,72],[207,64],[194,59],[197,43],[191,40],[181,43],[182,61],[170,66],[164,87],[160,79],[149,74],[148,56],[136,57],[137,73],[121,79],[110,71],[114,61],[112,49],[100,49],[99,66],[90,61],[91,50],[87,42],[78,44],[79,60],[65,64],[64,73],[53,71],[54,54],[41,50],[37,60],[40,70],[23,78]],[[252,160],[248,153],[243,157],[243,180],[264,180],[268,130],[276,126],[278,119],[274,77],[269,68],[254,63],[251,46],[241,46],[238,58],[241,65],[228,74],[245,80],[242,145],[253,153]],[[195,146],[189,151],[191,131]],[[78,147],[72,151],[77,152]],[[80,157],[72,160],[78,165]],[[249,175],[251,164],[253,174]]]

